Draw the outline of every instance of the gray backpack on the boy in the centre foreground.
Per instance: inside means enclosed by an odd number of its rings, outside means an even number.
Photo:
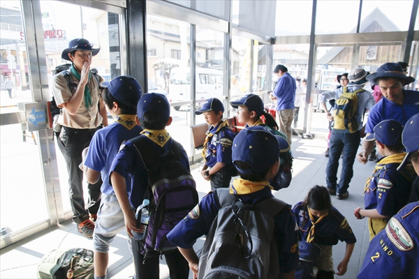
[[[274,216],[286,203],[270,197],[244,204],[228,188],[215,193],[220,209],[204,243],[198,278],[278,278]]]

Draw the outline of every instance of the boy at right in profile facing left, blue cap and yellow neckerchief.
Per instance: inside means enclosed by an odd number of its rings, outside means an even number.
[[[403,125],[399,121],[384,120],[365,139],[376,140],[377,151],[383,156],[365,183],[365,209],[358,207],[353,212],[357,219],[369,217],[370,241],[385,228],[390,217],[409,201],[411,183],[416,174],[411,166],[397,169],[406,155],[403,152],[402,131]]]

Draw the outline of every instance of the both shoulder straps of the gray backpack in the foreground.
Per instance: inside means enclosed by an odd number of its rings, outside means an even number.
[[[230,206],[236,199],[238,199],[238,197],[235,195],[230,194],[229,188],[219,188],[214,190],[214,193],[216,193],[216,202],[219,203],[220,208]],[[281,201],[281,199],[277,199],[275,197],[269,197],[264,199],[262,202],[253,204],[253,206],[255,206],[257,210],[260,210],[274,218],[274,216],[276,216],[279,212],[282,211],[282,209],[285,208],[286,202]]]

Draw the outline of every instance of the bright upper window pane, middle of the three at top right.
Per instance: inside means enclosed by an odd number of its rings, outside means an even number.
[[[316,34],[356,33],[359,10],[359,0],[317,1]]]

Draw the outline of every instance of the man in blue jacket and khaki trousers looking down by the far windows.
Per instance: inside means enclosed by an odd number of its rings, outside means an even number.
[[[274,98],[277,98],[277,121],[279,123],[279,130],[286,134],[288,143],[291,146],[291,137],[293,135],[291,124],[294,119],[294,100],[297,84],[294,77],[291,77],[288,73],[288,68],[284,65],[277,65],[274,69],[274,74],[279,78],[273,92]]]

